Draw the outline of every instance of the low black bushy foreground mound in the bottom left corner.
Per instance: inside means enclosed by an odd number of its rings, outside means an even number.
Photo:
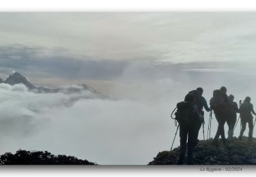
[[[52,155],[47,151],[18,150],[15,154],[6,152],[0,157],[0,165],[97,165],[73,156]]]

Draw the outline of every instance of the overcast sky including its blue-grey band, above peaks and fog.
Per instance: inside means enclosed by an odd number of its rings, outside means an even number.
[[[2,12],[1,76],[18,70],[113,80],[131,63],[254,63],[255,18],[250,12]]]

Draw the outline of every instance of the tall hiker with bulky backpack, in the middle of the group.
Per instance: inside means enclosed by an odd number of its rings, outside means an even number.
[[[218,121],[218,130],[212,144],[218,146],[218,138],[220,135],[223,144],[226,144],[224,125],[227,116],[230,114],[230,109],[227,88],[225,86],[221,86],[221,89],[214,91],[210,106],[214,110],[216,120]]]

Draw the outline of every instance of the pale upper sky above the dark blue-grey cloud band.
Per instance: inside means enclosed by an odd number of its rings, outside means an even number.
[[[97,60],[252,60],[255,18],[250,12],[1,13],[0,44],[65,48]]]

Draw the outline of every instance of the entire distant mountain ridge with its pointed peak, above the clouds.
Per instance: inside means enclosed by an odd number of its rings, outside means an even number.
[[[29,91],[32,91],[34,93],[79,93],[81,91],[90,91],[91,93],[94,93],[96,97],[100,99],[109,99],[111,97],[103,95],[102,93],[96,91],[94,88],[91,86],[88,86],[87,84],[79,84],[79,85],[73,85],[69,87],[65,86],[60,86],[57,88],[50,88],[47,86],[34,86],[21,74],[18,72],[15,72],[14,74],[11,74],[6,80],[3,80],[0,78],[0,83],[5,83],[5,84],[10,84],[10,85],[15,85],[15,84],[24,84],[29,88]]]

